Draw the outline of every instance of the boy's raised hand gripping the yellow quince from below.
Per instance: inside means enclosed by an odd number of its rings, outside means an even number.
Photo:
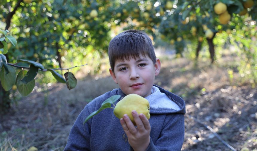
[[[136,111],[132,111],[132,116],[137,127],[134,126],[127,114],[123,115],[120,123],[128,136],[130,146],[135,151],[145,151],[150,143],[151,126],[149,120],[144,114],[138,115]]]

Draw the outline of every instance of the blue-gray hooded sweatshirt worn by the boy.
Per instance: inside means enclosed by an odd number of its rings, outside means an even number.
[[[107,108],[83,124],[85,118],[98,110],[113,95],[126,96],[121,89],[109,91],[88,103],[75,121],[68,137],[65,151],[129,151],[133,150],[120,124]],[[120,101],[117,100],[118,101]],[[185,102],[179,96],[156,85],[147,96],[150,103],[150,144],[147,151],[181,150],[184,141]],[[116,102],[116,103],[117,103]]]

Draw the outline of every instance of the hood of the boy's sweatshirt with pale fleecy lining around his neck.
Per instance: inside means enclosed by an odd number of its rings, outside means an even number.
[[[121,95],[118,101],[126,96],[120,88],[112,90],[112,93],[114,95]],[[152,94],[146,96],[146,99],[149,101],[150,113],[152,114],[186,113],[186,103],[181,97],[157,85],[153,86]]]

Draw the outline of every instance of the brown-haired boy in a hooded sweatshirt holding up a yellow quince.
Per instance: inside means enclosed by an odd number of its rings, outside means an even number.
[[[124,31],[110,41],[108,55],[110,74],[120,88],[95,98],[85,106],[71,129],[64,150],[181,150],[185,102],[154,85],[161,63],[155,56],[151,39],[143,31]],[[118,119],[113,109],[107,108],[83,124],[85,118],[98,110],[109,97],[121,95],[122,99],[131,93],[149,101],[149,120],[144,114],[132,111],[137,124],[134,126],[128,115]]]

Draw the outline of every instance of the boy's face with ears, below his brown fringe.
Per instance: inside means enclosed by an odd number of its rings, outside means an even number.
[[[154,77],[160,73],[160,59],[156,58],[153,64],[148,55],[146,58],[143,55],[137,59],[131,57],[130,60],[115,61],[114,71],[111,68],[109,71],[126,95],[134,93],[146,97],[151,94]]]

